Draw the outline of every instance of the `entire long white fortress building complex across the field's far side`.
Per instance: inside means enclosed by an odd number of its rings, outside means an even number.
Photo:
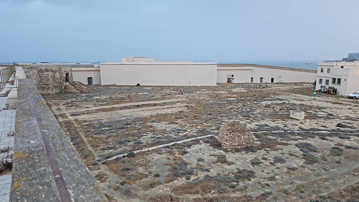
[[[217,83],[311,83],[316,70],[254,64],[155,61],[122,57],[121,62],[29,63],[24,66],[67,66],[73,81],[88,85],[215,86]]]

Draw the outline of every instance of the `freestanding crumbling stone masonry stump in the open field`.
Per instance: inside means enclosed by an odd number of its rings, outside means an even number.
[[[219,130],[218,141],[227,149],[260,145],[246,123],[239,121],[225,123]]]

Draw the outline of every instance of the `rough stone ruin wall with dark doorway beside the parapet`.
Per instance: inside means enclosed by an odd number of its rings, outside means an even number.
[[[43,94],[61,93],[65,90],[65,75],[73,81],[70,66],[23,66],[27,79],[34,81],[38,91]]]

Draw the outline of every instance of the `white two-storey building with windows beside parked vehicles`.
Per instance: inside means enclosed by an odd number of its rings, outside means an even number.
[[[334,86],[339,95],[359,90],[359,62],[319,62],[316,89]]]

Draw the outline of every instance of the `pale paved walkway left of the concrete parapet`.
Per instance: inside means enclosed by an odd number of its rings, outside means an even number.
[[[14,136],[8,136],[8,133],[15,132],[15,114],[16,109],[4,109],[7,103],[7,97],[0,98],[0,148],[14,147]],[[0,160],[13,154],[13,150],[0,153]],[[10,198],[11,173],[0,175],[0,202],[8,202]]]

